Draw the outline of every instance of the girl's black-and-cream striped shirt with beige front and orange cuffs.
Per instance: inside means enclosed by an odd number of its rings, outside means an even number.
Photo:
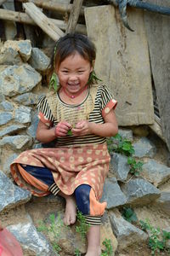
[[[105,85],[99,85],[96,89],[96,94],[94,98],[91,97],[91,88],[88,89],[88,94],[83,102],[79,105],[70,105],[62,102],[59,95],[55,95],[55,108],[50,108],[50,102],[47,96],[43,96],[37,103],[38,111],[41,113],[39,118],[45,124],[50,124],[51,126],[56,126],[61,120],[65,120],[71,125],[76,125],[78,121],[82,119],[87,119],[89,122],[94,122],[96,124],[104,124],[105,120],[103,117],[103,111],[107,108],[108,104],[112,101],[112,107],[116,107],[116,101],[111,95],[111,90],[109,90]],[[93,106],[93,108],[90,108]],[[90,111],[91,109],[91,111]],[[107,108],[108,110],[109,108]],[[109,113],[111,109],[107,111]],[[43,116],[43,119],[41,118]],[[105,137],[99,137],[98,135],[88,134],[85,136],[74,137],[65,136],[57,137],[56,147],[62,146],[73,146],[77,144],[94,144],[94,143],[105,143]]]

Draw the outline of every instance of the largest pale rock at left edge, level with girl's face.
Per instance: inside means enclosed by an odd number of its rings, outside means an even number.
[[[4,96],[15,96],[31,91],[42,76],[28,64],[0,68],[0,90]]]

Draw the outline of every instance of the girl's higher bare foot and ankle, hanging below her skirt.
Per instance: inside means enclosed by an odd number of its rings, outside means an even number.
[[[65,218],[64,224],[71,225],[76,222],[77,219],[77,207],[74,196],[65,196],[66,206],[65,206]]]

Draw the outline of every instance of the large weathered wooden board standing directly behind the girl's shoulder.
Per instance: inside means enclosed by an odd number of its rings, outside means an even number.
[[[85,9],[88,36],[97,48],[94,69],[118,101],[118,124],[150,125],[154,106],[143,11],[127,9],[127,15],[134,32],[122,25],[114,6]]]

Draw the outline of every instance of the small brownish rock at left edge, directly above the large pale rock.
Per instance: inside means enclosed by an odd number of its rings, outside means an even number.
[[[0,65],[21,65],[19,53],[9,47],[8,49],[1,49],[0,52]]]

